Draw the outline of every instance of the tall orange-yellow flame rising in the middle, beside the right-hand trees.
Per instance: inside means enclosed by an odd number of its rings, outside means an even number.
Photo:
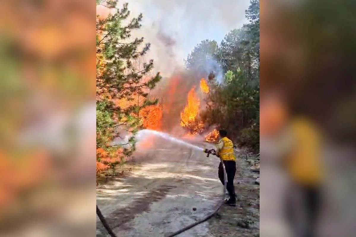
[[[188,92],[188,101],[182,113],[180,113],[180,126],[189,128],[195,122],[199,111],[199,98],[195,93],[195,86]]]

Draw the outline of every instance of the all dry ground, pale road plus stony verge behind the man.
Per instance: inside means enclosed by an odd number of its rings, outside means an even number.
[[[218,216],[179,237],[258,236],[259,186],[247,153],[236,152],[241,153],[237,206],[223,206]],[[159,148],[120,167],[116,176],[99,179],[97,204],[117,236],[166,236],[208,215],[219,203],[218,165],[217,157],[162,141]],[[96,236],[107,236],[98,219]]]

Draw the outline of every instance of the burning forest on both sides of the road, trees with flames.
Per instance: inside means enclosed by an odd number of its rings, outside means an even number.
[[[150,92],[164,75],[153,75],[153,59],[145,63],[141,60],[151,47],[143,43],[145,36],[131,37],[131,32],[141,27],[143,15],[132,17],[129,4],[118,8],[115,0],[97,4],[110,9],[108,16],[98,15],[96,20],[96,168],[100,172],[124,162],[135,150],[135,136],[127,141],[129,148],[125,144],[108,145],[116,135],[116,128],[124,126],[133,135],[145,128],[159,130],[164,107]],[[187,113],[194,108],[194,103],[189,102],[194,93],[188,94],[187,106],[180,115],[180,124],[188,135],[203,134],[204,128],[214,127],[205,136],[207,141],[214,141],[216,129],[224,128],[235,144],[258,152],[259,8],[260,2],[251,0],[245,12],[247,23],[231,29],[220,43],[201,41],[184,60],[184,70],[202,78],[200,88],[206,94],[205,108],[199,113],[195,109],[193,117]],[[217,65],[217,70],[206,67],[211,62]]]

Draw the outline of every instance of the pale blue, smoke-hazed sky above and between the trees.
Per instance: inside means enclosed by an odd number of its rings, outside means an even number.
[[[143,14],[142,27],[131,35],[151,43],[145,59],[154,60],[154,72],[170,76],[201,41],[220,43],[246,23],[250,0],[125,0],[118,7],[124,2],[129,3],[130,17]]]

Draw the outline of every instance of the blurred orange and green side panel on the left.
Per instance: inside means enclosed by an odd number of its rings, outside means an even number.
[[[94,1],[1,1],[0,236],[95,233]]]

